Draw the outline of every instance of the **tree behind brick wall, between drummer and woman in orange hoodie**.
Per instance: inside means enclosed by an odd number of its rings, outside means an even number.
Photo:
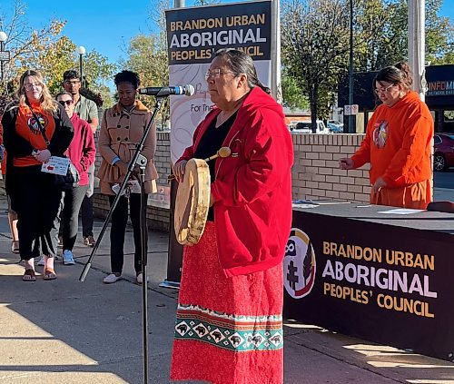
[[[281,5],[282,63],[309,99],[313,133],[345,73],[348,20],[348,7],[341,0],[289,0]]]

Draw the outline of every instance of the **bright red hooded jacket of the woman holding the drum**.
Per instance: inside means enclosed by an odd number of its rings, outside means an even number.
[[[208,113],[179,160],[192,158],[220,112],[214,108]],[[212,194],[219,261],[227,277],[267,270],[281,263],[291,230],[293,144],[281,105],[253,88],[222,145],[238,156],[215,163]]]

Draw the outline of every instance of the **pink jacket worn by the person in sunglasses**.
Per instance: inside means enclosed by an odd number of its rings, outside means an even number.
[[[76,113],[71,117],[74,125],[74,137],[66,151],[66,155],[73,162],[79,172],[79,185],[88,184],[88,168],[94,163],[96,147],[94,146],[93,131],[90,124],[80,119]]]

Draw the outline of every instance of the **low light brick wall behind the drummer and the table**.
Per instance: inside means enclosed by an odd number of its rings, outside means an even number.
[[[295,161],[292,169],[293,199],[346,200],[369,202],[369,164],[359,170],[342,171],[338,161],[354,153],[363,134],[292,134]],[[96,138],[97,142],[97,138]],[[96,154],[96,169],[101,156]],[[170,174],[170,135],[157,133],[154,164],[159,173],[158,194],[147,210],[150,228],[169,231],[168,208]],[[94,213],[105,217],[109,209],[107,198],[98,189],[94,192]]]

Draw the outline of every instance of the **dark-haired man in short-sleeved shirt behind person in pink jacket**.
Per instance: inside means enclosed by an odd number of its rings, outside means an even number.
[[[99,124],[98,108],[93,100],[87,99],[79,93],[81,89],[81,77],[74,71],[66,71],[63,74],[64,90],[72,94],[74,100],[74,113],[84,121],[88,122],[92,128],[93,134],[96,133]],[[94,247],[95,240],[93,234],[93,193],[94,193],[94,164],[88,170],[88,191],[82,202],[82,234],[84,235],[84,244]]]

